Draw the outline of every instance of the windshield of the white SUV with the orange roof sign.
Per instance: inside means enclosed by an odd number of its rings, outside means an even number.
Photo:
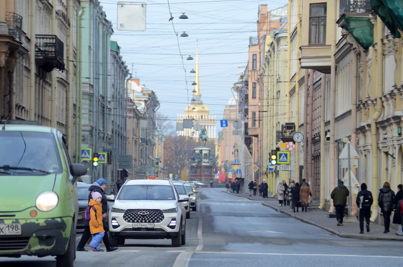
[[[117,199],[120,200],[174,200],[175,195],[170,185],[124,185]]]

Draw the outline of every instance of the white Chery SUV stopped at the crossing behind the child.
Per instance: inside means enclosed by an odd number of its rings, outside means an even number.
[[[125,239],[172,239],[172,246],[186,243],[186,211],[171,181],[127,180],[109,212],[109,237],[113,246]]]

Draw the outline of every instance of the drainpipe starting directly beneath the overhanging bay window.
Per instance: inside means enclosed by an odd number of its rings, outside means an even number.
[[[325,127],[325,106],[326,106],[326,75],[322,73],[322,80],[321,80],[321,89],[322,93],[320,96],[320,203],[319,209],[323,209],[324,207],[324,190],[325,190],[325,145],[324,142],[326,141],[326,136],[324,134],[324,127]]]

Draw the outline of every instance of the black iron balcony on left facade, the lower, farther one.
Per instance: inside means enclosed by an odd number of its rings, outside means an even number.
[[[64,70],[64,44],[56,35],[36,35],[35,62],[49,73]]]

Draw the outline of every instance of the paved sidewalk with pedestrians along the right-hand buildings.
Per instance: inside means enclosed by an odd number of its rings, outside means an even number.
[[[294,213],[290,212],[289,206],[279,206],[279,201],[277,197],[275,198],[262,198],[261,196],[251,196],[249,194],[235,194],[223,191],[224,193],[228,193],[231,195],[245,197],[253,201],[262,201],[262,205],[272,208],[278,212],[287,214],[297,220],[300,220],[307,224],[312,224],[314,226],[320,227],[326,231],[329,231],[332,234],[338,235],[340,237],[347,238],[358,238],[358,239],[375,239],[375,240],[399,240],[403,241],[403,236],[398,236],[395,234],[395,231],[392,230],[388,234],[383,233],[383,226],[370,223],[370,232],[367,233],[366,229],[364,229],[364,234],[359,234],[360,232],[360,224],[359,223],[343,223],[343,226],[337,226],[337,221],[335,218],[327,218],[326,215],[328,212],[322,211],[319,209],[308,210],[308,212],[301,212],[301,208],[299,208],[299,212]],[[365,225],[364,225],[365,228]]]

